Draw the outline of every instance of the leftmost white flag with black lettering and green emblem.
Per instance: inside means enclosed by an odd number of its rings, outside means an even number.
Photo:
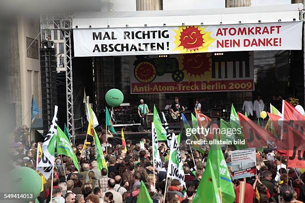
[[[48,179],[52,173],[55,161],[56,134],[57,134],[57,109],[55,105],[54,116],[49,132],[42,144],[41,159],[38,162],[38,170]]]

